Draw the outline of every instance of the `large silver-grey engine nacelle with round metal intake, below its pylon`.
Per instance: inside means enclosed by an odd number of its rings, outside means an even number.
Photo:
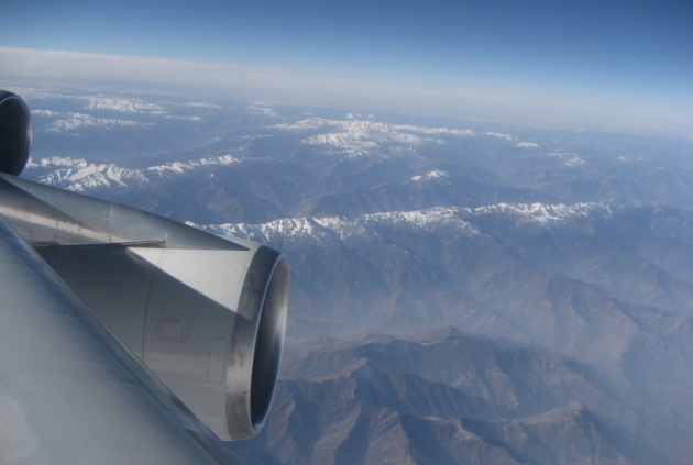
[[[242,250],[37,245],[79,298],[222,439],[254,435],[276,384],[288,264]]]

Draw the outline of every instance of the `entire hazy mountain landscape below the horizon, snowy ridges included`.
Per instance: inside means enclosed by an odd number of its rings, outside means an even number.
[[[25,177],[288,255],[248,463],[689,463],[693,141],[25,90]]]

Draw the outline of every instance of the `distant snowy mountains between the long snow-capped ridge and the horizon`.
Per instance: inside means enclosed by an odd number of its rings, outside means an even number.
[[[685,140],[338,118],[264,102],[67,96],[30,104],[28,176],[196,223],[502,202],[693,204]],[[80,171],[80,160],[99,166]],[[103,189],[128,177],[130,197]]]

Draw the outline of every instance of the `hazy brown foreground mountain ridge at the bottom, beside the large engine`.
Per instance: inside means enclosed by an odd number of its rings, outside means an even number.
[[[296,375],[239,447],[246,463],[667,463],[638,431],[641,399],[539,347],[448,328],[302,341],[286,358]]]

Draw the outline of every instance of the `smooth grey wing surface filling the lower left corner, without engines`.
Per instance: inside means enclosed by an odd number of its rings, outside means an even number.
[[[235,462],[1,217],[0,462]]]

